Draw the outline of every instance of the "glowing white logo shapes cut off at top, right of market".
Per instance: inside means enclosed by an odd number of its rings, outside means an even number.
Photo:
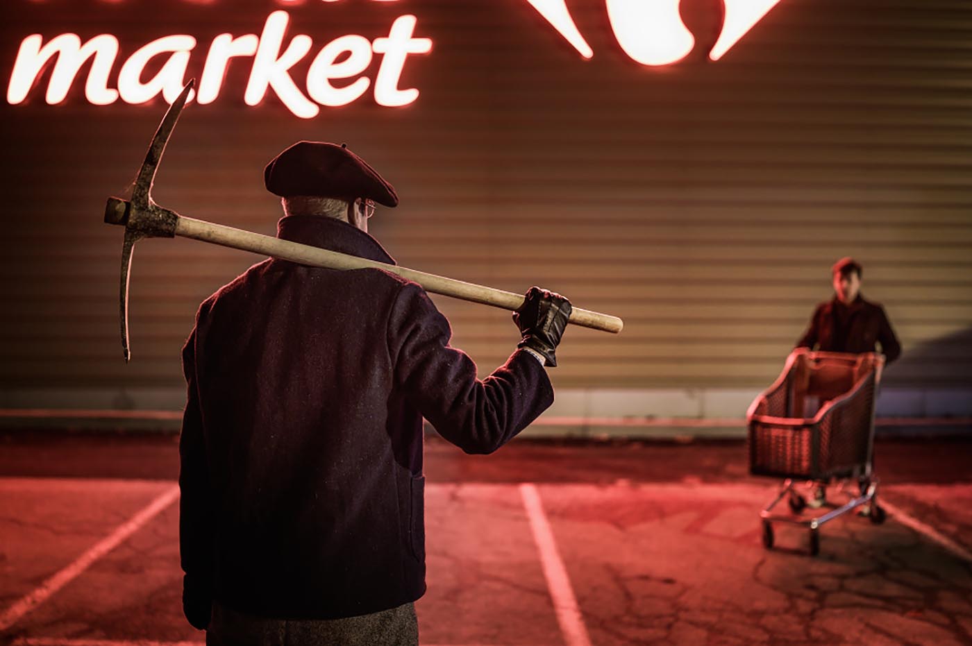
[[[567,8],[567,0],[526,0],[584,58],[594,51]],[[618,45],[642,65],[668,65],[695,48],[695,38],[679,16],[681,0],[605,0]],[[712,0],[725,12],[718,40],[709,51],[718,60],[781,0]]]

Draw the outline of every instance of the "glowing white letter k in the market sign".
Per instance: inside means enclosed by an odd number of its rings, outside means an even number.
[[[271,86],[284,105],[297,117],[311,119],[317,116],[320,109],[297,89],[288,70],[310,51],[313,41],[310,36],[297,35],[281,55],[280,46],[283,45],[284,32],[289,21],[290,16],[284,11],[273,12],[266,18],[243,100],[247,105],[255,106],[263,100],[267,86]]]

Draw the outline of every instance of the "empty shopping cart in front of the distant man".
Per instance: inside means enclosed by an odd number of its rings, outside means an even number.
[[[810,553],[820,549],[818,528],[861,507],[874,524],[885,521],[878,506],[878,479],[872,469],[874,404],[885,357],[794,350],[769,389],[746,413],[749,472],[784,478],[779,495],[760,513],[763,545],[773,547],[774,523],[810,529]],[[826,499],[839,483],[844,504]],[[809,493],[800,493],[797,483]],[[783,497],[791,515],[773,513]],[[807,507],[825,513],[807,518]]]

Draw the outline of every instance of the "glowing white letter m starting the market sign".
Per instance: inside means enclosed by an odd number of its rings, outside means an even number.
[[[81,45],[81,38],[77,34],[61,34],[50,43],[41,47],[43,38],[40,34],[27,36],[20,43],[17,51],[17,61],[14,63],[14,73],[7,86],[7,101],[13,105],[20,103],[27,97],[27,93],[37,80],[41,68],[56,53],[57,61],[48,85],[47,101],[50,104],[60,103],[67,96],[67,90],[74,83],[78,70],[85,61],[94,56],[91,71],[87,74],[85,96],[94,105],[103,106],[114,103],[119,97],[118,90],[108,89],[108,75],[115,64],[115,56],[119,51],[118,39],[108,34],[95,36]]]

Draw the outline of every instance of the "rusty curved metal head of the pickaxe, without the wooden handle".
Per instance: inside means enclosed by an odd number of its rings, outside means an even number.
[[[131,255],[135,243],[142,238],[175,237],[178,214],[158,206],[152,199],[152,184],[156,179],[158,162],[161,161],[165,145],[169,141],[172,129],[179,120],[189,93],[195,85],[192,79],[179,94],[179,97],[169,106],[162,122],[158,124],[156,136],[152,138],[149,152],[145,154],[145,161],[135,180],[131,200],[120,197],[109,197],[105,206],[105,222],[108,224],[124,225],[124,242],[121,245],[121,289],[119,290],[119,306],[121,319],[121,350],[125,362],[131,358],[128,350],[128,278],[131,275]]]

